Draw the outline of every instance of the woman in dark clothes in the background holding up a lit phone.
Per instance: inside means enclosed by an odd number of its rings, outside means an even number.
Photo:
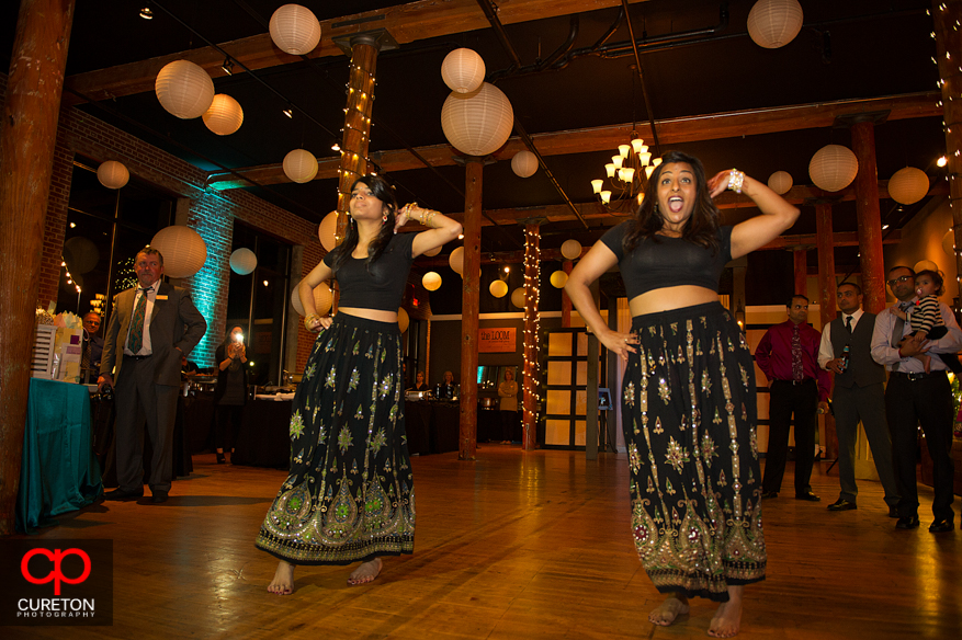
[[[235,327],[214,354],[217,361],[217,387],[214,389],[214,405],[217,408],[217,427],[214,432],[214,447],[217,464],[226,460],[224,452],[233,449],[234,437],[240,430],[240,415],[247,403],[247,348],[244,346],[244,330]],[[229,423],[229,427],[228,427]]]

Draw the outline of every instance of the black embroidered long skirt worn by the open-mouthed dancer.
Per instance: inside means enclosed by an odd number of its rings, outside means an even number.
[[[622,387],[632,534],[661,593],[765,580],[755,370],[717,302],[637,316]]]

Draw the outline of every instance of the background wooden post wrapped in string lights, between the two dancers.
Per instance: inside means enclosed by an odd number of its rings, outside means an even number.
[[[541,235],[537,225],[524,225],[524,393],[521,448],[528,452],[537,448],[537,393],[541,388],[537,322],[540,249]]]

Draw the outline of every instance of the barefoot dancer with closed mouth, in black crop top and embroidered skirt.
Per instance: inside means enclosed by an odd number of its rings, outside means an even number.
[[[299,287],[319,331],[294,397],[291,472],[256,545],[281,562],[268,591],[294,590],[295,564],[361,561],[348,584],[371,582],[383,556],[414,551],[415,491],[405,444],[397,309],[414,259],[454,240],[461,225],[407,205],[369,175],[351,188],[344,241]],[[408,220],[429,230],[396,235]],[[314,287],[336,278],[337,317],[319,318]]]

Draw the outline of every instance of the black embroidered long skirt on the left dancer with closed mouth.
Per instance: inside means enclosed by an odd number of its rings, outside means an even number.
[[[411,553],[415,489],[396,322],[338,313],[304,369],[291,472],[256,545],[292,564]]]

